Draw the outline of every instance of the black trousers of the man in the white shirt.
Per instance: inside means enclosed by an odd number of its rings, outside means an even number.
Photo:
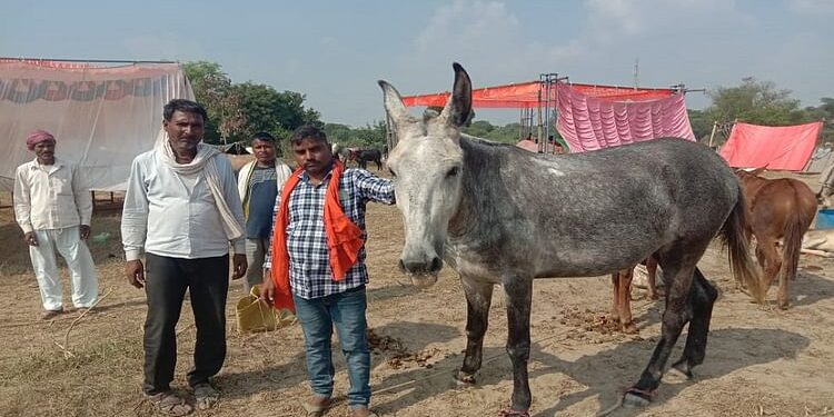
[[[177,334],[182,301],[191,298],[197,342],[191,387],[208,383],[226,359],[226,296],[229,290],[229,256],[183,259],[146,255],[145,385],[148,395],[170,389],[177,366]]]

